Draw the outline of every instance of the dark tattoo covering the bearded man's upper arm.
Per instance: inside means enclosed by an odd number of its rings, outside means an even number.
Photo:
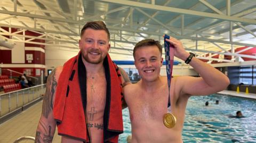
[[[43,100],[43,110],[42,114],[44,117],[48,117],[49,113],[52,111],[53,108],[53,95],[55,93],[55,88],[57,86],[57,81],[55,79],[55,72],[54,69],[49,77],[47,78],[47,84],[46,84],[46,91],[44,94],[44,100]]]

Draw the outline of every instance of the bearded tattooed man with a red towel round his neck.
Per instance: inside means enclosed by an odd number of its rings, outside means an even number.
[[[47,79],[35,142],[118,142],[123,132],[121,75],[108,55],[109,31],[102,21],[81,30],[80,52]]]

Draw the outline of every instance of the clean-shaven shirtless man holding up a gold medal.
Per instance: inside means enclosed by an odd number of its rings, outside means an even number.
[[[177,39],[166,39],[174,45],[174,55],[186,60],[189,53]],[[145,39],[133,49],[134,64],[141,80],[124,87],[132,124],[132,143],[182,142],[182,128],[188,99],[192,95],[209,95],[226,89],[229,79],[212,66],[193,57],[190,65],[201,77],[175,77],[171,80],[171,113],[176,117],[173,128],[165,127],[163,115],[167,113],[169,88],[166,77],[159,73],[163,64],[162,46],[158,41]],[[171,125],[171,124],[169,124]]]

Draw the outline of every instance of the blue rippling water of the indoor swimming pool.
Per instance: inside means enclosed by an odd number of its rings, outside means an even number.
[[[219,100],[219,104],[215,104]],[[209,106],[205,106],[205,102]],[[228,115],[242,111],[241,119]],[[124,133],[119,142],[125,143],[131,134],[129,111],[123,110]],[[256,142],[256,100],[214,94],[190,97],[182,132],[185,143],[190,142]]]

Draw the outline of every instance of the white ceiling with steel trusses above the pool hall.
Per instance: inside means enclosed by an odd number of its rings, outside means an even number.
[[[256,47],[256,0],[0,1],[0,27],[42,34],[25,40],[0,29],[13,41],[34,43],[31,40],[39,38],[51,48],[78,51],[79,31],[92,20],[107,24],[114,60],[133,60],[135,43],[145,38],[163,43],[163,33],[180,39],[198,58],[233,62],[205,57],[207,53],[256,58],[234,52],[237,47]]]

